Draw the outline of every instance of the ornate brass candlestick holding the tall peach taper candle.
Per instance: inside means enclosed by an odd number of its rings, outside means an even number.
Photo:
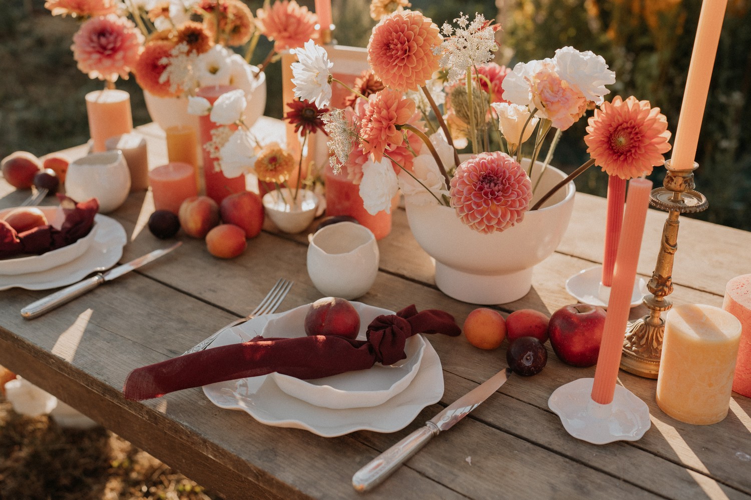
[[[623,341],[623,357],[620,367],[638,376],[656,379],[659,371],[659,358],[662,355],[662,334],[665,332],[665,319],[660,317],[664,311],[673,307],[668,295],[673,292],[673,259],[677,250],[678,216],[707,209],[707,198],[694,190],[694,163],[690,170],[674,170],[670,160],[665,162],[668,174],[665,175],[664,187],[657,187],[650,195],[650,205],[668,212],[668,219],[662,228],[662,244],[657,254],[657,264],[652,279],[647,283],[651,295],[646,295],[642,302],[650,310],[644,316],[626,328]]]

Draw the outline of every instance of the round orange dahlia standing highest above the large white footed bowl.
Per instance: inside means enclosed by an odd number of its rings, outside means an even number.
[[[368,42],[368,63],[384,85],[399,91],[418,90],[439,68],[438,26],[422,13],[397,10],[381,19]]]

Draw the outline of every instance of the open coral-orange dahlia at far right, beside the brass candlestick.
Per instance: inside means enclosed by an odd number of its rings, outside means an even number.
[[[623,179],[649,175],[670,150],[668,120],[650,101],[620,95],[602,103],[587,127],[587,153],[608,175]]]

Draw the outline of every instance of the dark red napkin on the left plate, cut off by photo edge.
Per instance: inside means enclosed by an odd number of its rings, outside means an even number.
[[[99,209],[97,199],[77,203],[62,194],[57,197],[65,214],[60,229],[47,224],[17,233],[5,220],[0,220],[0,259],[21,253],[41,255],[50,250],[67,247],[89,234],[94,225],[94,216]]]

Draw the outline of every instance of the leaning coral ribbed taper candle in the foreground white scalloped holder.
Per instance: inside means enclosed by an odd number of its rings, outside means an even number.
[[[608,405],[613,401],[651,190],[652,181],[644,178],[629,181],[623,230],[618,242],[613,287],[608,302],[608,316],[605,317],[605,328],[602,331],[602,343],[592,387],[592,399],[601,405]]]

